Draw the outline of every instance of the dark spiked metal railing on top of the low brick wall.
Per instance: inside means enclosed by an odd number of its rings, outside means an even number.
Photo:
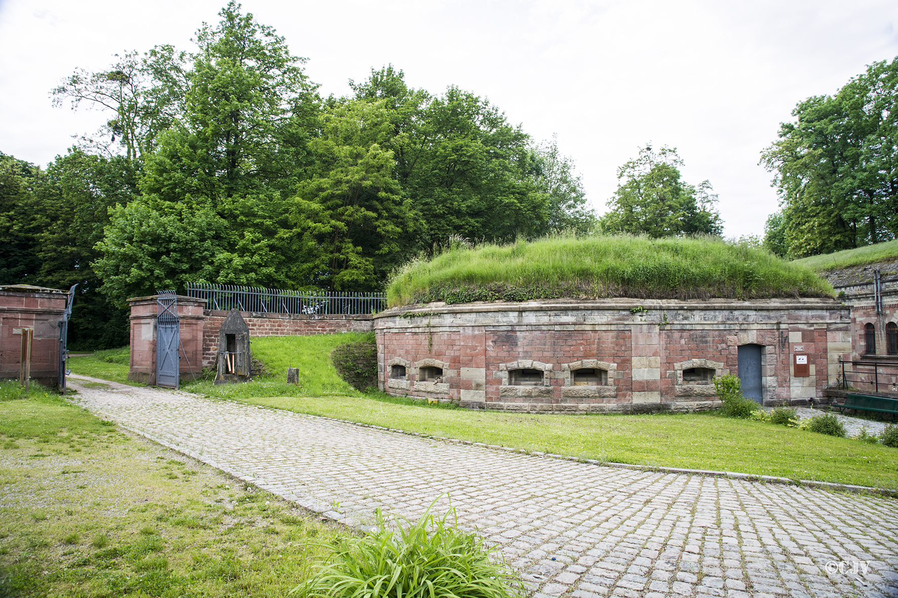
[[[239,285],[188,283],[187,295],[206,299],[207,310],[262,313],[299,313],[337,315],[383,312],[386,295],[379,293],[328,293],[323,291],[286,291]]]

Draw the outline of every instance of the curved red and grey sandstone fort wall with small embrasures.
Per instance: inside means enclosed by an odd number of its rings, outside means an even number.
[[[515,411],[708,409],[723,374],[806,404],[851,352],[849,308],[823,299],[430,303],[374,331],[383,391]]]

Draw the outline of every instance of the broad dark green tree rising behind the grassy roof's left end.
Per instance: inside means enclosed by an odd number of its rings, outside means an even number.
[[[503,241],[546,229],[549,198],[531,176],[530,138],[496,106],[454,86],[436,97],[413,90],[392,66],[353,89],[391,111],[383,147],[419,218],[409,254],[432,254],[453,236]]]

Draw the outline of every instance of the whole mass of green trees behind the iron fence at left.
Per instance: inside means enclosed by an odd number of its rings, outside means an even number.
[[[218,15],[193,51],[63,79],[53,103],[102,121],[47,169],[0,154],[0,283],[78,282],[85,348],[127,341],[102,314],[160,288],[382,290],[451,239],[594,227],[574,163],[480,95],[391,65],[322,98],[273,28],[234,2]]]

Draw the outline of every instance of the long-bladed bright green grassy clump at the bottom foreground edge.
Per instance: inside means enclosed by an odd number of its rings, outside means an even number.
[[[310,598],[508,598],[521,587],[497,549],[473,532],[460,532],[427,512],[418,523],[388,529],[378,512],[377,528],[337,547],[333,560],[291,592]],[[452,513],[452,511],[450,511]],[[397,522],[398,523],[398,522]]]

